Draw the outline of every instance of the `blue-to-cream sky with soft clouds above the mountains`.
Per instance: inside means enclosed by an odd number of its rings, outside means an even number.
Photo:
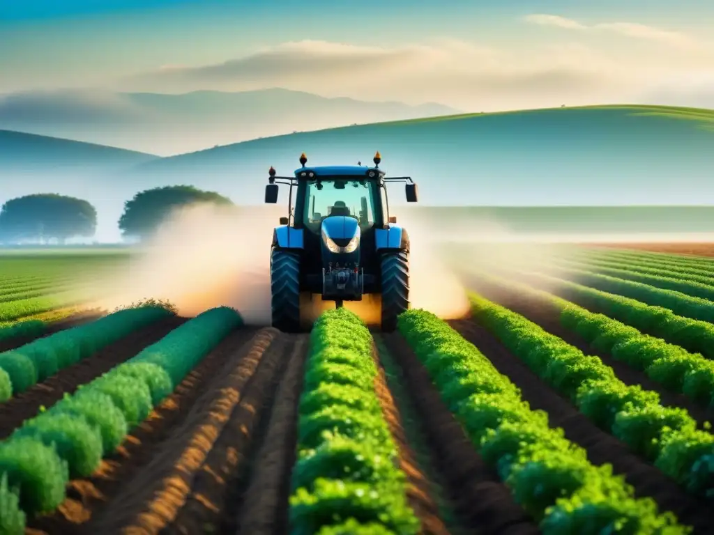
[[[714,108],[711,0],[0,0],[0,94]]]

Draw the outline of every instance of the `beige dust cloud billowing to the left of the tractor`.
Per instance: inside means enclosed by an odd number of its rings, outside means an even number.
[[[221,305],[251,325],[270,325],[269,210],[190,205],[171,213],[124,273],[105,284],[112,310],[144,299],[169,300],[192,317]]]

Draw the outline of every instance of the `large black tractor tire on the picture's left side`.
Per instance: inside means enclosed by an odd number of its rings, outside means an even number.
[[[273,327],[300,331],[300,255],[273,249],[270,258]]]

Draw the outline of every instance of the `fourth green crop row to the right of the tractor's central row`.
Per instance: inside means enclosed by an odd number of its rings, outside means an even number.
[[[542,280],[548,287],[557,288],[560,295],[583,307],[595,307],[615,320],[638,330],[651,332],[685,350],[702,353],[714,359],[714,325],[709,322],[678,316],[664,307],[647,305],[629,297],[595,290],[569,280],[533,273],[528,276]]]

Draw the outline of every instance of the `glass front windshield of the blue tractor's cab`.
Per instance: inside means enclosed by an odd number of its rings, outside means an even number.
[[[322,220],[329,215],[347,215],[359,221],[362,230],[374,225],[374,195],[376,183],[358,180],[322,180],[321,189],[309,182],[305,192],[305,226],[320,231]]]

